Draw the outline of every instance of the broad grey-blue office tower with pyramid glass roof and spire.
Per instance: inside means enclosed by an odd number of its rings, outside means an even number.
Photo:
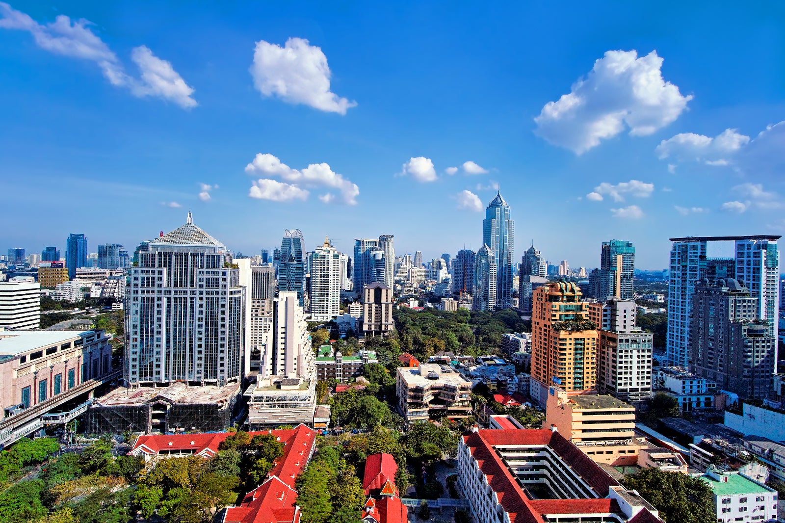
[[[226,246],[188,221],[130,269],[126,386],[222,386],[243,379],[246,287]]]

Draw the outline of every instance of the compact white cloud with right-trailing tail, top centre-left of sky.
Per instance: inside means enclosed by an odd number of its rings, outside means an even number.
[[[283,47],[264,40],[256,42],[250,74],[260,93],[275,95],[290,104],[341,115],[357,104],[330,91],[327,57],[304,38],[289,38]]]

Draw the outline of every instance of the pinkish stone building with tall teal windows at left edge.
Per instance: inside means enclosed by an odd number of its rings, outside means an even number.
[[[0,444],[63,422],[62,405],[86,401],[93,390],[119,377],[103,329],[91,331],[0,330]],[[86,410],[79,409],[79,414]]]

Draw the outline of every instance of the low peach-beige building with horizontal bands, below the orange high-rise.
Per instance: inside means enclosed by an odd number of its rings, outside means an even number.
[[[568,394],[552,387],[546,422],[597,463],[636,465],[644,441],[634,437],[635,408],[615,397]]]

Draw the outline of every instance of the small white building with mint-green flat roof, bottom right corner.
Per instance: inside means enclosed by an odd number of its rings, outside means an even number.
[[[701,479],[714,494],[717,521],[773,521],[777,492],[738,472],[709,469]]]

